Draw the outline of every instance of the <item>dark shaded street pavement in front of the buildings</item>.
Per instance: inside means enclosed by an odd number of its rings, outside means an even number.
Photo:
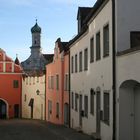
[[[0,120],[0,140],[93,140],[65,126],[38,120]]]

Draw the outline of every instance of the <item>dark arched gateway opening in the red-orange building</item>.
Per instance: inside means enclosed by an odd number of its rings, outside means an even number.
[[[7,104],[4,100],[0,99],[0,119],[7,118]]]

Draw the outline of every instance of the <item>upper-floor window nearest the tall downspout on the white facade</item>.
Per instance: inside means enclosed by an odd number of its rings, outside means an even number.
[[[109,56],[109,25],[104,27],[104,57]]]

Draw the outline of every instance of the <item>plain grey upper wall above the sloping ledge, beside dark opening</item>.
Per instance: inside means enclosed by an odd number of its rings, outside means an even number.
[[[140,31],[139,5],[139,0],[116,0],[117,51],[130,48],[130,31]]]

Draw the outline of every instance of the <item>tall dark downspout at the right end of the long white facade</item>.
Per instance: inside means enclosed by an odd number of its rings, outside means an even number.
[[[112,0],[112,80],[113,80],[113,135],[116,140],[116,21],[115,21],[115,0]]]

